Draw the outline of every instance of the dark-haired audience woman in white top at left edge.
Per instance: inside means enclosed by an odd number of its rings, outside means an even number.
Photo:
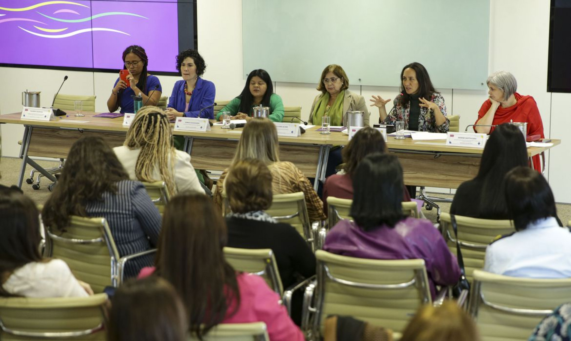
[[[0,186],[0,296],[86,297],[91,287],[75,279],[61,259],[44,259],[39,213],[19,188]]]

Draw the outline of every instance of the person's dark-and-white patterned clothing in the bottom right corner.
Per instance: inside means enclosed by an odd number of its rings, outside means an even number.
[[[571,303],[558,306],[545,316],[528,341],[571,341]]]

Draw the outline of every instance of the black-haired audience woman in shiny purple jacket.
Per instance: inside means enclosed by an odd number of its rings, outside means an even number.
[[[435,285],[460,279],[456,257],[432,222],[403,214],[403,168],[394,155],[373,153],[353,173],[354,221],[341,220],[325,237],[331,253],[369,259],[424,259],[432,297]]]

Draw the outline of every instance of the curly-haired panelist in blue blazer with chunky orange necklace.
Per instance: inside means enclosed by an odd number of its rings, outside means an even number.
[[[204,59],[196,50],[185,50],[176,56],[176,70],[182,80],[175,83],[165,112],[168,119],[200,117],[214,120],[214,83],[200,76],[206,70]]]

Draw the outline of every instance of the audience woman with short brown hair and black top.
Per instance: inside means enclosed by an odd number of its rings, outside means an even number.
[[[284,288],[315,275],[315,255],[303,237],[264,212],[272,205],[272,173],[262,161],[238,161],[228,171],[224,186],[232,209],[226,216],[228,246],[272,249]],[[301,295],[293,297],[292,318],[298,324],[302,301]]]

